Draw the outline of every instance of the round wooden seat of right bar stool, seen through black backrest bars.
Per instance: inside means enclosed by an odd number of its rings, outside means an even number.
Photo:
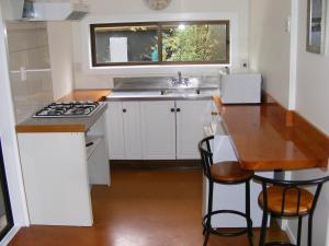
[[[286,195],[284,196],[284,189],[286,187],[283,186],[270,186],[268,190],[268,210],[274,214],[281,215],[303,215],[309,213],[314,195],[307,191],[306,189],[299,188],[300,190],[300,202],[298,204],[298,190],[295,188],[286,189]],[[285,197],[284,208],[282,211],[283,197]],[[261,192],[258,197],[258,202],[263,208],[263,192]]]

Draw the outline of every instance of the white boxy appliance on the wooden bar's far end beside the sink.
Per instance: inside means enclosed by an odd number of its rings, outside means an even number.
[[[261,102],[260,73],[234,71],[220,75],[220,94],[225,104],[258,104]]]

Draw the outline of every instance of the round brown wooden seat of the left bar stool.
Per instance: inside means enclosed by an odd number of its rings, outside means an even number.
[[[239,162],[219,162],[211,166],[211,176],[216,183],[243,183],[249,180],[253,172],[240,167]]]

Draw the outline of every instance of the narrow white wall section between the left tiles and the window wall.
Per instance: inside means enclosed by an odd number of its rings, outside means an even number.
[[[70,22],[48,22],[54,99],[73,89],[72,34]]]

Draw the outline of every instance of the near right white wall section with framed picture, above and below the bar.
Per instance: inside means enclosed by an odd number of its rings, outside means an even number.
[[[296,86],[296,112],[307,120],[317,126],[321,131],[329,134],[329,22],[327,17],[327,52],[315,55],[306,51],[306,23],[307,23],[307,0],[298,0],[298,46],[297,46],[297,86]],[[329,16],[329,8],[327,9]],[[320,171],[294,173],[294,179],[309,178],[310,176],[324,176],[329,173]],[[328,245],[329,234],[329,185],[322,190],[315,216],[314,244],[316,246]],[[290,229],[296,232],[296,224],[290,223]],[[304,229],[306,226],[304,225]],[[305,232],[305,231],[304,231]],[[304,236],[304,244],[306,238]]]

